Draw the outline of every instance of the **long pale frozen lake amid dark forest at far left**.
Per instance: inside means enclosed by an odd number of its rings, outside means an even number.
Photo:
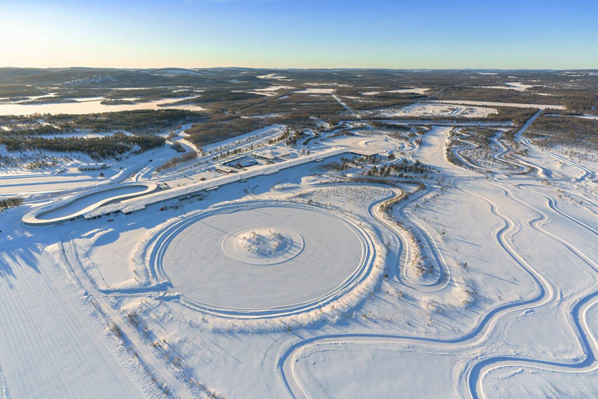
[[[199,105],[168,105],[189,98],[175,98],[168,100],[152,100],[138,104],[102,104],[102,98],[77,100],[62,103],[9,103],[0,104],[0,115],[30,115],[30,114],[94,114],[97,112],[133,111],[136,109],[188,109],[201,111]]]

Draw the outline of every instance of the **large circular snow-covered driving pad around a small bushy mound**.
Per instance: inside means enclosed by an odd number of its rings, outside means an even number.
[[[287,240],[273,261],[239,244],[254,232]],[[256,201],[176,221],[155,237],[147,266],[187,307],[225,318],[269,319],[340,299],[368,278],[375,258],[370,234],[336,212]]]

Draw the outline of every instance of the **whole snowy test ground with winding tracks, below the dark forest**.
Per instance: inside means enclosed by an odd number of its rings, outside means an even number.
[[[538,115],[0,176],[25,198],[0,215],[0,397],[597,395],[596,165],[527,139]]]

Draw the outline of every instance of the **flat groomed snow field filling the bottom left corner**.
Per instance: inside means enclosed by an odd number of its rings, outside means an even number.
[[[118,364],[123,354],[94,331],[97,312],[81,313],[43,251],[34,242],[2,243],[2,398],[142,397]]]

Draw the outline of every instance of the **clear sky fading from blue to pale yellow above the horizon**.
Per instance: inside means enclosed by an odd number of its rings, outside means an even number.
[[[598,68],[598,0],[0,0],[0,66]]]

